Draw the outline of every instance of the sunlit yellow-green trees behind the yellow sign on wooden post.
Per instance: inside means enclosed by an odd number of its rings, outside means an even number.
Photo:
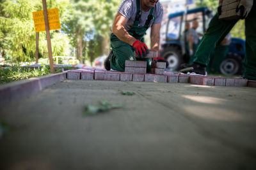
[[[12,62],[35,60],[36,34],[32,12],[42,10],[42,1],[1,1],[0,50],[3,57]],[[47,8],[58,8],[61,18],[69,4],[69,0],[49,0]],[[51,37],[53,55],[67,55],[68,37],[60,31],[51,31]],[[39,52],[47,52],[45,32],[40,32]]]

